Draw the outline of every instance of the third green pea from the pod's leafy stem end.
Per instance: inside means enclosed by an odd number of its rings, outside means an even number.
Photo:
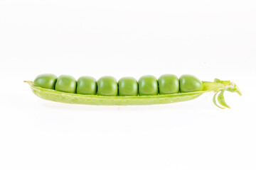
[[[154,96],[159,94],[157,79],[147,75],[139,79],[139,96]]]

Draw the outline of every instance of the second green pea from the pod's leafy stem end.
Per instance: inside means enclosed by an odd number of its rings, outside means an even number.
[[[159,94],[178,94],[179,81],[174,74],[164,74],[158,79]]]

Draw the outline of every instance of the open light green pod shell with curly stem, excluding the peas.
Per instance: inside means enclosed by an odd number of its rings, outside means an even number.
[[[61,103],[73,103],[73,104],[86,104],[86,105],[102,105],[102,106],[127,106],[127,105],[154,105],[154,104],[166,104],[175,103],[181,101],[190,101],[194,98],[198,98],[204,93],[214,92],[215,96],[218,92],[218,102],[223,108],[229,108],[225,103],[223,92],[231,91],[241,94],[241,91],[231,81],[221,81],[215,79],[214,82],[203,81],[203,90],[195,91],[191,93],[179,93],[179,94],[166,94],[156,96],[97,96],[97,95],[82,95],[82,94],[68,94],[51,89],[43,89],[38,86],[33,86],[32,81],[25,81],[31,86],[31,89],[36,96],[46,99],[48,101],[56,101]],[[213,103],[218,106],[213,98]],[[218,106],[220,107],[220,106]],[[220,107],[222,108],[222,107]]]

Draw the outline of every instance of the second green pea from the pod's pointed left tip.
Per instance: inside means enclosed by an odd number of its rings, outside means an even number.
[[[56,91],[62,91],[65,93],[75,94],[76,80],[72,76],[61,75],[58,77],[55,84]]]

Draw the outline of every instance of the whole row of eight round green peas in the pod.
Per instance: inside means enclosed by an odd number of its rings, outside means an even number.
[[[137,81],[133,77],[123,77],[117,82],[114,77],[80,77],[78,81],[72,76],[41,74],[33,81],[34,86],[53,89],[71,94],[98,96],[155,96],[163,94],[188,93],[201,91],[202,81],[190,74],[179,79],[174,74],[164,74],[159,79],[151,75],[143,76]]]

